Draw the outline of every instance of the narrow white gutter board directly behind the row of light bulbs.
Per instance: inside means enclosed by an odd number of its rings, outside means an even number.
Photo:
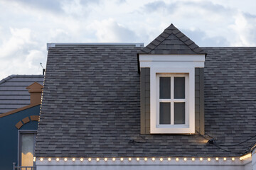
[[[43,161],[40,159],[36,159],[36,166],[41,165],[244,165],[251,162],[251,159],[247,159],[246,161],[241,161],[238,157],[235,160],[232,160],[228,157],[226,160],[223,158],[219,158],[218,161],[215,158],[196,158],[192,160],[191,158],[181,158],[178,157],[178,161],[175,157],[168,158],[155,158],[154,161],[151,157],[148,157],[146,161],[144,157],[132,157],[129,161],[128,158],[124,158],[123,161],[120,161],[120,158],[115,158],[115,161],[112,161],[112,158],[99,158],[97,161],[93,158],[91,161],[88,161],[88,158],[83,158],[80,161],[80,158],[75,158],[75,161],[72,160],[73,158],[68,158],[67,161],[64,161],[63,158],[60,158],[59,161],[56,161],[55,158],[51,158],[51,161],[48,161],[48,158],[44,158]]]

